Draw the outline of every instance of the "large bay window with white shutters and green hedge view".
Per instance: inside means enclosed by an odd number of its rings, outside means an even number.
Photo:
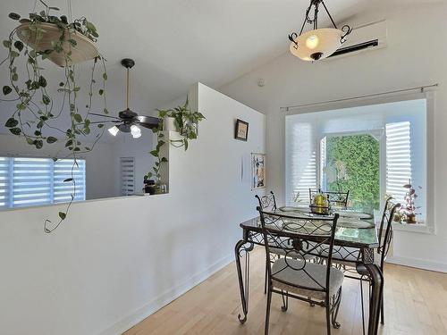
[[[411,180],[417,191],[417,223],[426,224],[433,211],[427,190],[427,115],[433,108],[428,101],[415,98],[287,114],[286,204],[308,202],[308,188],[342,188],[350,190],[352,207],[379,210],[388,195],[405,205],[404,185]],[[337,169],[342,169],[342,181]]]

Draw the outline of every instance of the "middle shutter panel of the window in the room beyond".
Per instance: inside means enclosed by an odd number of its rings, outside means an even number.
[[[48,158],[12,158],[12,207],[51,204],[53,164]]]

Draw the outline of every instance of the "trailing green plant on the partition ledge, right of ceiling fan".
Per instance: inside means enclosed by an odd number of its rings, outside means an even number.
[[[156,163],[154,163],[152,171],[148,172],[146,176],[148,179],[154,177],[156,179],[156,185],[159,186],[162,163],[168,161],[167,158],[160,153],[161,147],[165,144],[163,133],[164,119],[173,118],[175,129],[181,135],[181,138],[171,139],[170,143],[173,147],[184,147],[186,151],[188,150],[189,141],[198,137],[198,122],[204,120],[205,116],[203,116],[202,113],[190,110],[188,97],[186,98],[184,105],[177,106],[173,109],[158,109],[157,112],[160,122],[158,123],[158,126],[152,130],[156,134],[156,148],[149,153],[156,157]]]

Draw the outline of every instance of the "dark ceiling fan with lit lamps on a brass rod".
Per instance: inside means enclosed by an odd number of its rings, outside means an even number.
[[[104,114],[97,114],[97,113],[90,113],[92,115],[102,116],[113,120],[107,120],[105,122],[113,122],[116,123],[113,127],[109,128],[110,134],[113,136],[116,136],[118,132],[130,132],[133,138],[140,138],[141,137],[141,130],[139,129],[139,126],[152,129],[156,128],[158,124],[160,123],[160,119],[153,117],[153,116],[143,116],[139,115],[138,113],[135,113],[131,111],[129,108],[129,94],[130,94],[130,71],[133,65],[135,65],[135,62],[130,58],[124,58],[122,61],[122,66],[124,66],[127,69],[127,107],[124,111],[118,113],[118,117],[116,116],[109,116]],[[97,122],[95,122],[97,123]]]

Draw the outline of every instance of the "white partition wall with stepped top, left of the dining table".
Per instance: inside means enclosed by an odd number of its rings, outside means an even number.
[[[0,213],[0,333],[119,334],[233,260],[256,214],[241,157],[265,151],[266,117],[200,84],[192,95],[207,120],[187,152],[170,149],[169,194],[73,204],[50,235],[58,205]]]

